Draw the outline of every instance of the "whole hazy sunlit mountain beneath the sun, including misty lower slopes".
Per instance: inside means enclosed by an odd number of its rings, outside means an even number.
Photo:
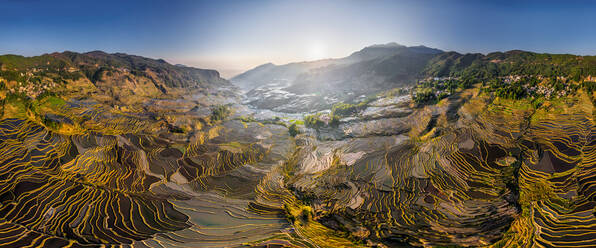
[[[339,59],[258,66],[231,79],[259,108],[305,112],[411,85],[443,51],[397,43],[372,45]]]

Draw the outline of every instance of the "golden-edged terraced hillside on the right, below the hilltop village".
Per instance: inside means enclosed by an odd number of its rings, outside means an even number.
[[[594,245],[590,100],[535,108],[475,90],[391,136],[368,121],[360,137],[305,137],[290,187],[321,223],[389,246]]]

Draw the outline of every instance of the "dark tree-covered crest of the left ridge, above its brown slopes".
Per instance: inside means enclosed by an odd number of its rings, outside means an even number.
[[[56,80],[60,80],[60,77],[87,77],[90,81],[95,82],[105,73],[126,70],[136,76],[149,78],[161,87],[208,87],[229,84],[215,70],[176,66],[163,59],[151,59],[125,53],[109,54],[103,51],[87,53],[65,51],[34,57],[2,55],[0,56],[0,68],[2,68],[0,77],[15,81],[19,79],[12,75],[15,72],[29,72],[39,74],[39,76],[53,77]]]

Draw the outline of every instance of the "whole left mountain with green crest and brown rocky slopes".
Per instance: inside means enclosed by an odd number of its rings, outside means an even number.
[[[34,99],[43,94],[93,98],[108,104],[137,104],[189,91],[215,95],[233,88],[215,70],[172,65],[124,53],[62,52],[35,57],[0,56],[0,82]]]

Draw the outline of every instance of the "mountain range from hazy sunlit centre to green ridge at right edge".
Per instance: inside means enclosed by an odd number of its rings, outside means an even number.
[[[300,113],[328,109],[338,102],[358,102],[429,77],[461,78],[462,85],[467,85],[511,75],[563,76],[578,81],[596,75],[596,56],[521,50],[461,54],[388,43],[339,59],[264,64],[231,81],[248,91],[247,102],[253,106]]]

